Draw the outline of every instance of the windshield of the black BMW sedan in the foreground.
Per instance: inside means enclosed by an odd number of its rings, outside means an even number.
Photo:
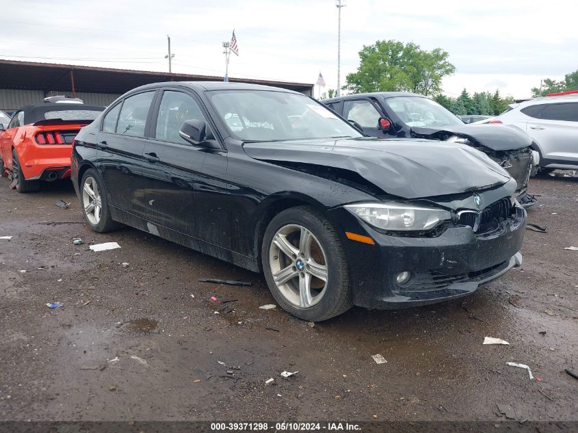
[[[363,137],[351,124],[305,95],[269,90],[207,92],[233,137],[285,141]]]

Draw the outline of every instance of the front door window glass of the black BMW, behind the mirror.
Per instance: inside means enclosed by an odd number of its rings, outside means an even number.
[[[183,92],[166,90],[163,92],[163,99],[159,107],[155,136],[158,140],[190,145],[187,140],[179,135],[179,131],[185,120],[193,119],[205,122],[207,124],[207,137],[213,136],[209,131],[207,119],[203,116],[200,107],[192,96]]]

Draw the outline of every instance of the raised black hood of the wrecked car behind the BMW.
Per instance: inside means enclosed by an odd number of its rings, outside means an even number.
[[[449,135],[464,137],[492,150],[526,148],[532,140],[521,129],[506,124],[463,124],[450,127],[412,127],[412,136],[431,140],[445,140]]]

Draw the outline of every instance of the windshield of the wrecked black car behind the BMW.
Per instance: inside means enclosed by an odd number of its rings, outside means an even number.
[[[408,127],[448,127],[464,124],[450,111],[428,98],[396,96],[386,99],[386,103]]]

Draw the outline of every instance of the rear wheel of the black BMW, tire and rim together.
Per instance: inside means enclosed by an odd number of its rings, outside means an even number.
[[[82,216],[92,231],[106,233],[120,228],[122,224],[111,218],[104,183],[94,168],[83,174],[79,189]]]

